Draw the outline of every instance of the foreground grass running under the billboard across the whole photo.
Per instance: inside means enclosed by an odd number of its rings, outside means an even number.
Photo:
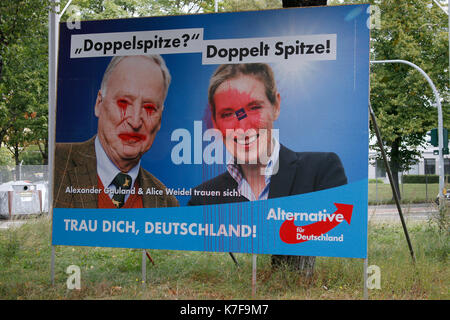
[[[250,254],[149,250],[147,282],[141,282],[142,250],[64,247],[55,249],[55,285],[50,284],[47,217],[0,231],[0,299],[252,299]],[[450,298],[449,234],[434,223],[409,224],[416,253],[411,262],[399,224],[369,226],[369,265],[381,270],[381,289],[370,299]],[[148,260],[147,260],[148,261]],[[66,286],[69,265],[81,269],[81,289]],[[287,268],[272,270],[258,255],[255,299],[362,299],[363,260],[318,257],[307,281]]]

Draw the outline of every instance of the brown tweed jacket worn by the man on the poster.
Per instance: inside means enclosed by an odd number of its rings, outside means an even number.
[[[55,208],[97,208],[98,194],[66,193],[67,187],[98,188],[95,136],[80,143],[57,143],[55,149],[55,171],[53,206]],[[148,171],[139,168],[137,176],[144,208],[176,207],[174,196],[165,194],[165,186]],[[107,186],[105,186],[107,187]],[[163,195],[145,195],[147,188],[163,190]]]

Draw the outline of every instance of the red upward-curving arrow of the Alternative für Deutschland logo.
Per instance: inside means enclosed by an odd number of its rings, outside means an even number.
[[[352,220],[353,205],[335,203],[337,210],[328,215],[324,215],[322,221],[318,221],[306,226],[298,227],[294,224],[294,219],[285,220],[280,228],[280,238],[283,242],[294,244],[301,243],[311,239],[308,236],[320,236],[327,233],[343,220],[350,224]]]

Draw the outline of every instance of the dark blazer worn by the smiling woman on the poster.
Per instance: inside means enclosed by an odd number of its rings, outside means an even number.
[[[294,152],[280,145],[278,161],[278,172],[270,180],[269,199],[329,189],[347,183],[344,167],[335,153]],[[194,188],[199,191],[220,191],[221,196],[193,195],[188,204],[207,205],[248,201],[244,196],[222,196],[227,189],[237,190],[237,187],[236,180],[226,171]]]

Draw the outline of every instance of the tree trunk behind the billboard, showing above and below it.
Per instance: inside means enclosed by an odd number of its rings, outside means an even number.
[[[283,0],[283,8],[326,5],[327,0]],[[316,257],[272,255],[272,268],[286,266],[292,270],[300,271],[300,273],[302,273],[308,279],[311,278],[314,274],[315,264]]]

